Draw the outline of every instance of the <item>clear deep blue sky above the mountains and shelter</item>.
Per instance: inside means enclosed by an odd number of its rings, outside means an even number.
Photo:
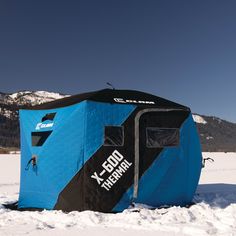
[[[106,82],[236,122],[236,1],[0,1],[0,91]]]

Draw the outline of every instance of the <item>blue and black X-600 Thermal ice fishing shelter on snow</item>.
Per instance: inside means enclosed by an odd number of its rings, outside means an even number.
[[[191,203],[201,148],[189,108],[104,89],[20,110],[19,209],[119,212]]]

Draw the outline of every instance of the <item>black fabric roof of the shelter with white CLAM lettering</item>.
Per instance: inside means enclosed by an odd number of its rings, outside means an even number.
[[[58,99],[52,102],[32,106],[30,110],[46,110],[65,106],[70,106],[85,100],[114,103],[114,104],[134,104],[138,106],[154,106],[161,108],[178,108],[183,110],[190,110],[188,107],[182,106],[175,102],[171,102],[164,98],[140,92],[135,90],[116,90],[103,89],[88,93],[72,95],[70,97]]]

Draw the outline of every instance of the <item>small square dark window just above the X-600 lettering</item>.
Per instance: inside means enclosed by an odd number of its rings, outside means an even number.
[[[124,127],[105,126],[104,146],[123,146],[123,145],[124,145]]]

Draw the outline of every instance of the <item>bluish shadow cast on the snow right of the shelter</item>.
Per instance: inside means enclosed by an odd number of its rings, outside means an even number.
[[[226,208],[236,203],[236,184],[200,184],[195,200],[197,203],[206,202],[212,207]]]

